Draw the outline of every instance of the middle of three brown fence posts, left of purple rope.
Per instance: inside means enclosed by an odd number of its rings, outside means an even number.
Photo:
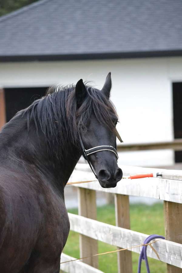
[[[129,196],[115,194],[116,226],[130,229],[130,204]],[[120,248],[117,248],[120,249]],[[131,251],[117,252],[118,273],[132,273]]]

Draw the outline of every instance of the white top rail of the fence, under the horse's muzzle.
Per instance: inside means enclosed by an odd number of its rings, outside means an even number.
[[[88,176],[87,165],[82,166],[82,170],[76,171],[77,177],[82,177],[83,180]],[[138,197],[152,197],[163,201],[182,203],[182,171],[180,170],[165,170],[155,168],[128,167],[120,166],[124,175],[129,174],[145,174],[145,173],[163,173],[164,176],[173,177],[173,179],[162,179],[157,177],[139,178],[135,180],[122,179],[118,182],[115,188],[102,188],[98,181],[74,185],[90,190],[99,190],[114,194],[133,195]],[[85,171],[84,171],[85,170]],[[177,180],[177,179],[181,180]]]

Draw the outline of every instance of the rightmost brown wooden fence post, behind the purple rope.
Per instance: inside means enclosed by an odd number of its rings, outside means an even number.
[[[182,244],[182,204],[164,201],[166,240]],[[182,273],[182,268],[167,264],[167,273]]]

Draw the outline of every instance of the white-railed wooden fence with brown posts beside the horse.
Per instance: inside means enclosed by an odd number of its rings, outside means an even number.
[[[80,165],[77,176],[84,180],[88,176],[88,167],[86,164]],[[163,200],[166,238],[155,242],[153,247],[160,260],[167,263],[168,273],[182,272],[182,171],[120,167],[124,175],[160,172],[163,178],[122,179],[116,188],[109,189],[102,188],[98,181],[75,185],[78,189],[79,215],[69,213],[69,220],[71,230],[80,234],[80,257],[97,254],[97,240],[117,248],[142,244],[148,235],[130,230],[129,195],[152,197]],[[97,190],[115,195],[116,226],[96,221]],[[141,247],[117,253],[119,273],[132,272],[131,251],[140,253]],[[150,247],[147,248],[147,256],[157,259]],[[61,261],[70,259],[73,258],[62,254]],[[61,269],[66,272],[101,272],[96,268],[97,257],[61,264]]]

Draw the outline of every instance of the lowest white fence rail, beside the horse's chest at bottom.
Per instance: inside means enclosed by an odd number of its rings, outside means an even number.
[[[75,258],[68,256],[64,253],[61,254],[61,262],[74,260]],[[84,260],[83,260],[84,261]],[[60,265],[60,272],[70,272],[70,273],[103,273],[103,271],[100,271],[99,269],[96,269],[90,265],[87,265],[86,263],[78,260],[78,261],[72,261],[65,264]]]

